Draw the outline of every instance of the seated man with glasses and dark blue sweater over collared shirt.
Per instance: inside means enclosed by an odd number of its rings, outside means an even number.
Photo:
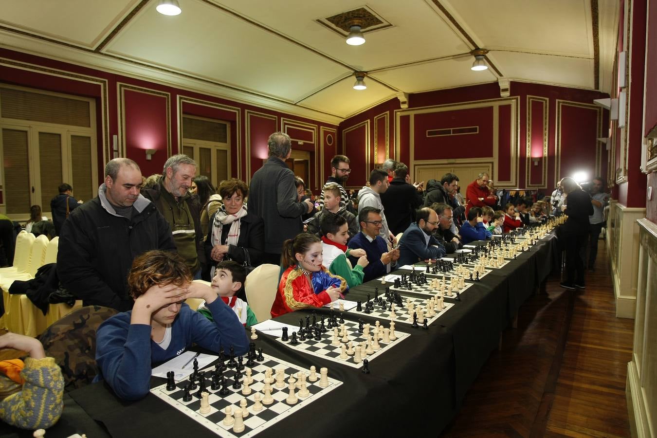
[[[378,235],[382,227],[381,210],[373,207],[363,207],[358,213],[361,232],[353,236],[347,245],[349,248],[362,248],[367,255],[369,265],[363,268],[363,282],[389,273],[392,265],[399,259],[399,249],[388,251],[388,244]],[[351,266],[358,263],[356,257],[349,257]]]

